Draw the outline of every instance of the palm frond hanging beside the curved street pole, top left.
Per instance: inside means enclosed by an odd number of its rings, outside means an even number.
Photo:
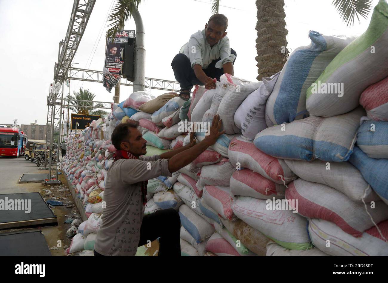
[[[142,0],[117,0],[108,16],[109,30],[106,37],[114,37],[118,30],[122,30],[126,21],[132,16]]]

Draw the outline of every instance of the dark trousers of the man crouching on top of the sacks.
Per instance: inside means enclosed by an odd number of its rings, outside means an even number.
[[[230,53],[234,54],[237,57],[236,51],[230,49]],[[223,68],[216,68],[216,63],[221,60],[221,57],[217,60],[213,60],[208,68],[202,69],[204,73],[210,78],[217,78],[220,81],[220,76],[224,74]],[[236,58],[234,59],[236,61]],[[233,61],[233,64],[234,64]],[[191,68],[190,59],[183,53],[179,53],[175,55],[174,59],[171,62],[171,67],[174,71],[175,80],[180,83],[181,89],[191,89],[193,85],[203,85],[201,83],[195,73],[194,69]]]

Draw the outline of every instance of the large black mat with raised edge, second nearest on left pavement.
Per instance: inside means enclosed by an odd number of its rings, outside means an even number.
[[[10,207],[12,202],[13,209]],[[23,206],[16,210],[16,203],[22,202]],[[57,223],[57,217],[40,193],[0,194],[0,209],[0,229]]]

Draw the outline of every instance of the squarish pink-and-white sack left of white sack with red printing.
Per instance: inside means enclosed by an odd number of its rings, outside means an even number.
[[[232,210],[234,195],[227,186],[205,186],[203,201],[225,219],[236,219]]]

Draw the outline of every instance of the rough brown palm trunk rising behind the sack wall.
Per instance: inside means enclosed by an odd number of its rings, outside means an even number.
[[[286,13],[284,0],[256,0],[257,80],[281,71],[287,61]]]

